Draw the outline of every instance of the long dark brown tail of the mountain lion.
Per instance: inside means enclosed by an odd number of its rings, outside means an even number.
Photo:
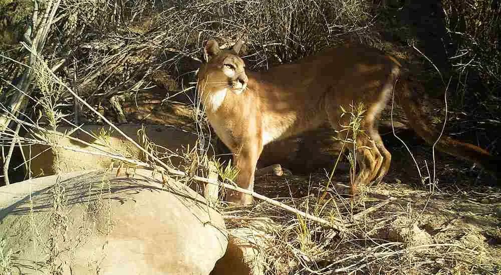
[[[411,86],[411,82],[405,78],[401,77],[397,81],[395,96],[405,111],[409,126],[426,142],[433,144],[440,135],[440,132],[429,122],[428,117],[419,105],[419,102],[423,100],[422,98],[418,98],[418,93],[414,89],[421,87]],[[444,134],[442,134],[435,147],[440,151],[472,161],[496,176],[498,181],[501,180],[500,157],[493,156],[478,146],[455,140]]]

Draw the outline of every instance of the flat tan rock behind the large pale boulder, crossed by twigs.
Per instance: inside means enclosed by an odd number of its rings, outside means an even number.
[[[143,138],[144,135],[139,133],[141,127],[144,127],[147,142]],[[170,157],[170,161],[175,166],[178,166],[182,161],[181,157],[175,156],[175,153],[182,154],[182,151],[188,146],[192,148],[198,139],[194,133],[164,125],[121,124],[119,128],[149,150],[154,148],[160,154],[172,155],[174,153],[174,156]],[[52,140],[59,147],[53,150],[48,145],[43,144],[23,146],[25,156],[32,158],[30,168],[33,176],[55,174],[55,167],[59,167],[61,172],[71,172],[85,169],[106,169],[119,165],[119,161],[113,162],[113,158],[103,153],[147,161],[139,148],[110,126],[83,125],[81,127],[83,131],[80,129],[73,131],[73,129],[69,126],[58,126],[57,128],[60,133],[68,133],[68,136],[81,139],[88,144],[66,136],[45,134],[39,131],[35,132],[35,135],[38,136],[34,138]],[[28,134],[28,137],[33,138],[31,134]]]

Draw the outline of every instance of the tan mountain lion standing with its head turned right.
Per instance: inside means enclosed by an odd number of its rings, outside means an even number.
[[[391,154],[383,145],[376,122],[395,87],[399,89],[395,96],[403,102],[416,132],[431,143],[438,136],[423,121],[419,101],[412,98],[415,93],[401,83],[405,79],[397,81],[401,76],[400,63],[377,49],[341,46],[301,63],[252,72],[245,69],[238,57],[240,46],[241,42],[233,49],[220,50],[215,40],[209,40],[204,48],[206,63],[200,66],[197,75],[207,118],[234,153],[233,163],[239,169],[236,183],[240,187],[253,190],[254,171],[264,145],[324,123],[341,130],[350,121],[348,115],[341,116],[340,106],[350,110],[350,105],[359,103],[367,111],[361,123],[363,133],[356,140],[359,172],[355,182],[368,184],[381,180],[389,169]],[[222,100],[221,94],[224,94]],[[338,137],[345,139],[346,134],[342,131]],[[438,148],[447,153],[483,166],[494,160],[477,146],[449,137],[441,140],[444,141],[439,142]],[[352,186],[352,192],[355,187]],[[249,204],[252,196],[229,192],[226,200]]]

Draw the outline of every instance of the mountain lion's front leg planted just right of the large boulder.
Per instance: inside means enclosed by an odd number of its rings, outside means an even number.
[[[263,146],[260,145],[244,145],[240,150],[234,152],[233,163],[239,171],[236,177],[236,184],[239,187],[254,191],[254,173],[262,150]],[[253,196],[234,190],[228,190],[226,193],[226,201],[240,205],[248,205],[252,204]]]

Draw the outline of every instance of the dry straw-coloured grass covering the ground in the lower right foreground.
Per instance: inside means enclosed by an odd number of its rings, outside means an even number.
[[[327,182],[327,176],[319,174],[260,178],[256,186],[258,192],[279,195],[281,202],[301,210],[321,208],[317,211],[320,217],[343,219],[350,228],[343,237],[265,202],[225,210],[226,215],[239,217],[227,219],[230,227],[252,226],[254,219],[270,220],[265,232],[274,238],[263,248],[267,274],[498,272],[501,251],[496,248],[498,244],[487,244],[483,235],[483,230],[495,226],[495,221],[487,215],[482,218],[486,223],[479,226],[481,222],[468,220],[466,216],[471,214],[464,210],[452,211],[457,210],[458,201],[468,204],[467,196],[454,195],[452,199],[439,193],[429,202],[427,191],[414,190],[407,184],[382,184],[368,190],[365,205],[352,207],[350,200],[343,197],[319,201]],[[277,194],[277,189],[290,190],[292,197]],[[385,201],[389,195],[398,198],[381,209],[353,218],[355,213]],[[487,213],[488,207],[485,210]],[[468,233],[461,233],[465,227],[470,228]]]

